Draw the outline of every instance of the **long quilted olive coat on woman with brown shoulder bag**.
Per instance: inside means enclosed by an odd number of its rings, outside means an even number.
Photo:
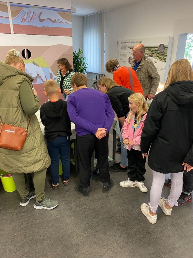
[[[0,115],[3,123],[26,128],[31,116],[28,135],[20,151],[0,148],[0,169],[10,173],[38,172],[49,167],[51,161],[34,110],[28,115],[20,102],[20,86],[23,82],[32,91],[33,78],[26,72],[0,62]],[[34,101],[39,102],[37,95]],[[26,101],[28,96],[25,96]],[[36,109],[38,109],[39,103]]]

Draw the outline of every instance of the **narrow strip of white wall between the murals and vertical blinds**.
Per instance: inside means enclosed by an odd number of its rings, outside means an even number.
[[[72,15],[72,44],[73,52],[80,48],[83,49],[82,45],[82,17]]]

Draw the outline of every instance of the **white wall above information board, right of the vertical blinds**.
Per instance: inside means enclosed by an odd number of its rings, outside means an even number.
[[[118,40],[173,36],[171,65],[179,34],[193,33],[192,10],[192,0],[147,0],[106,12],[105,60],[117,57]]]

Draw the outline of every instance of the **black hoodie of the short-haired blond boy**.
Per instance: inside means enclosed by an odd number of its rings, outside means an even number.
[[[44,103],[40,108],[40,118],[45,126],[47,142],[55,140],[58,136],[72,135],[66,101],[59,99],[57,102]]]

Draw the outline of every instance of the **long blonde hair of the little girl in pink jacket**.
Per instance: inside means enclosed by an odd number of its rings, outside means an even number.
[[[141,93],[138,93],[138,92],[131,94],[128,99],[129,99],[129,101],[131,100],[131,101],[135,102],[139,108],[139,110],[137,111],[137,118],[136,118],[137,125],[138,125],[142,119],[142,113],[144,111],[147,112],[147,110],[148,110],[146,99],[144,98],[144,96]],[[127,124],[130,123],[133,114],[134,113],[130,110],[129,115],[127,117]]]

